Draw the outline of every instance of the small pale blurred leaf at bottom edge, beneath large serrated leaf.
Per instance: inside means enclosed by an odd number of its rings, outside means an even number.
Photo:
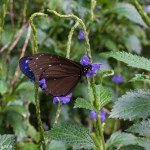
[[[66,147],[61,141],[52,140],[48,150],[66,150]]]

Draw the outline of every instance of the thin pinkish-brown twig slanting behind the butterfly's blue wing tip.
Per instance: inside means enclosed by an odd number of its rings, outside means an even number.
[[[22,48],[22,53],[20,55],[20,58],[22,58],[24,56],[24,53],[26,51],[26,48],[27,48],[27,45],[28,45],[28,42],[29,42],[29,38],[30,38],[30,34],[31,34],[31,26],[29,25],[28,27],[28,33],[27,33],[27,36],[26,36],[26,40],[25,40],[25,43],[24,43],[24,46]],[[14,78],[13,80],[11,81],[11,84],[10,84],[10,90],[12,90],[13,88],[13,85],[18,77],[18,72],[19,72],[19,65],[17,66],[17,69],[15,71],[15,75],[14,75]]]

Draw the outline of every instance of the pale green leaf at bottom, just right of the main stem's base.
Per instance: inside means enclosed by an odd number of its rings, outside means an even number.
[[[118,147],[121,144],[123,145],[135,144],[135,139],[136,137],[132,134],[124,132],[122,133],[116,132],[111,135],[110,139],[108,140],[106,148],[112,150],[112,147]]]

